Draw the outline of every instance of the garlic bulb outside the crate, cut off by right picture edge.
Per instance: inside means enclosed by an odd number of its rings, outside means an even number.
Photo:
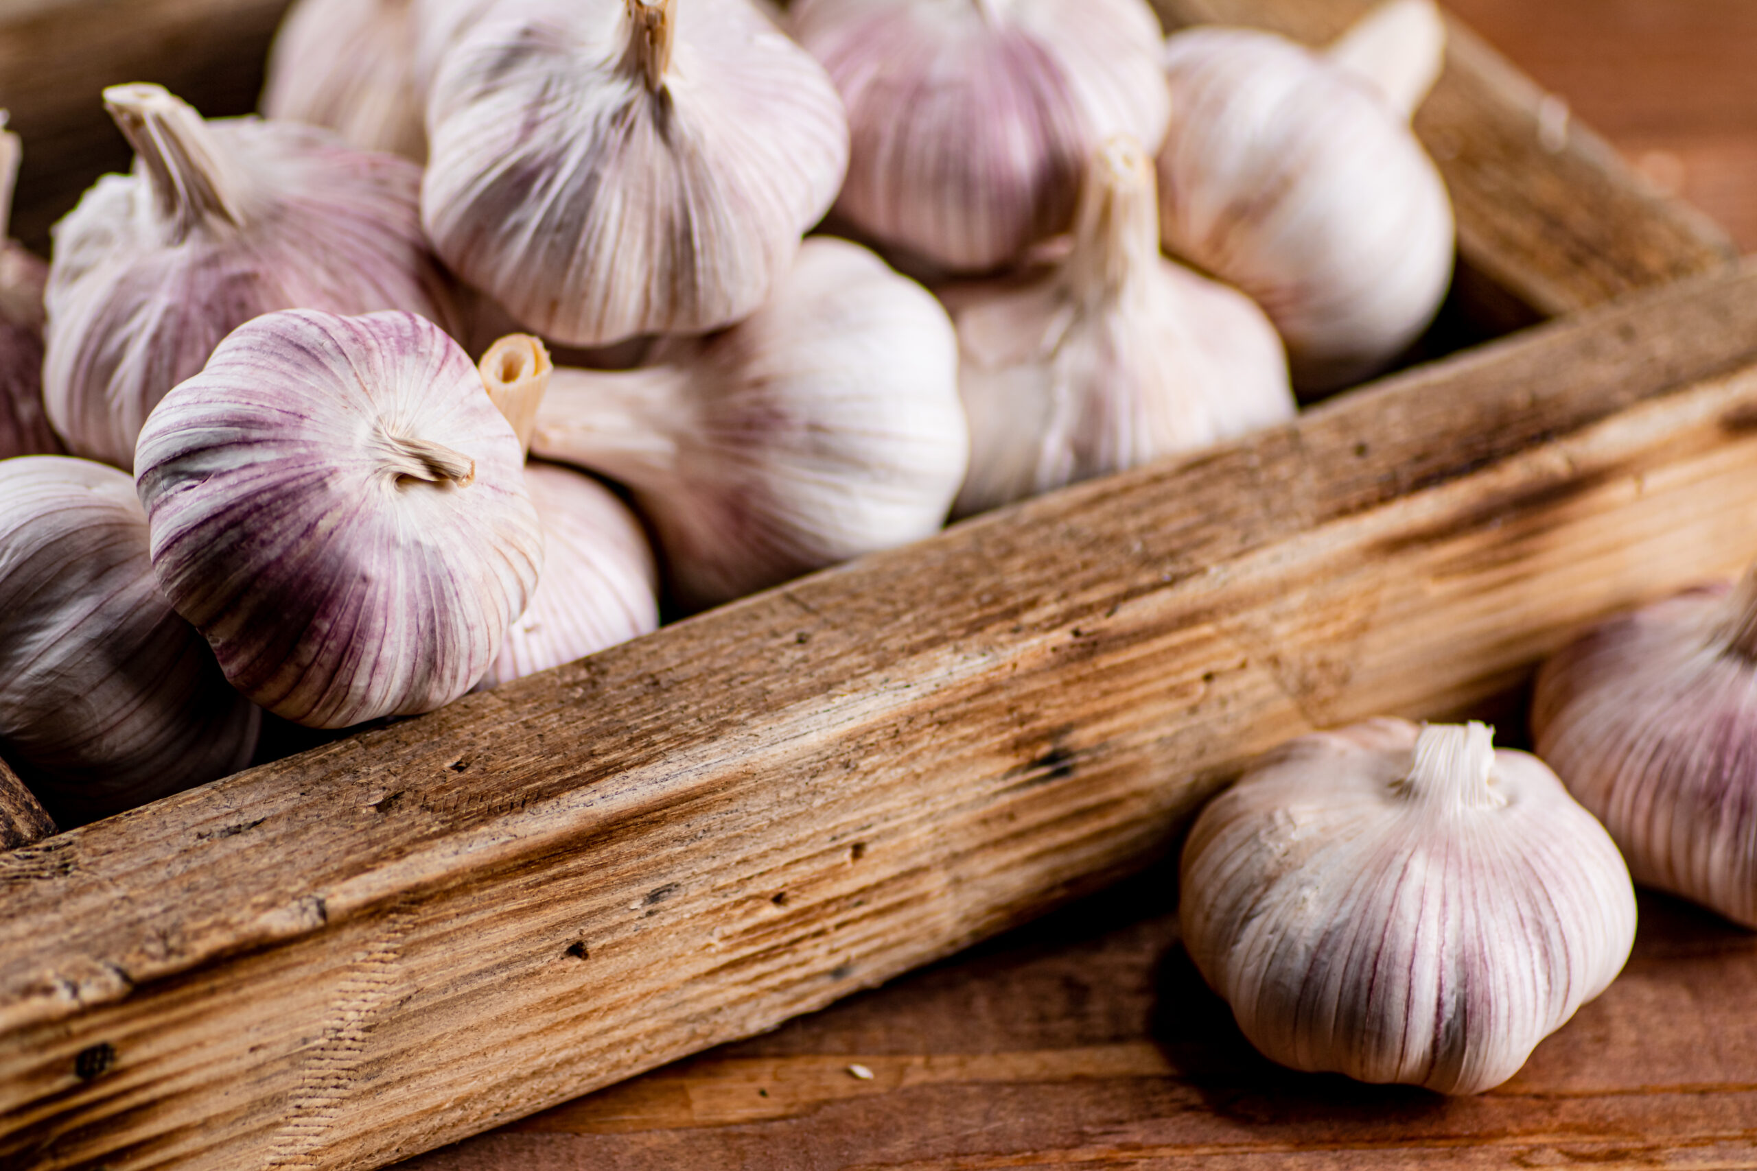
[[[1757,576],[1562,648],[1537,672],[1532,734],[1638,883],[1757,927]]]

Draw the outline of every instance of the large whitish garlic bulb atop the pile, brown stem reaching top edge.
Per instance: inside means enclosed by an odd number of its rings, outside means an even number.
[[[522,0],[445,56],[422,212],[452,269],[573,346],[763,305],[847,167],[824,70],[745,0]]]

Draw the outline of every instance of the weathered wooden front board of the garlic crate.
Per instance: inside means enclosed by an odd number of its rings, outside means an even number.
[[[1476,708],[1753,555],[1741,272],[0,855],[0,1162],[432,1148],[1095,890],[1279,739]]]

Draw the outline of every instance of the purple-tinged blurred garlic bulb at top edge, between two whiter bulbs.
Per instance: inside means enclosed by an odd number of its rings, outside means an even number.
[[[1065,230],[1110,135],[1165,137],[1142,0],[796,0],[792,30],[849,107],[838,214],[947,270]]]

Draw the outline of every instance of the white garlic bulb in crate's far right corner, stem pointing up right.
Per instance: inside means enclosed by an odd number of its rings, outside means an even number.
[[[1165,248],[1269,313],[1302,390],[1383,369],[1451,283],[1451,202],[1409,130],[1442,25],[1428,0],[1393,4],[1330,54],[1244,28],[1191,28],[1165,47]],[[1392,65],[1374,86],[1363,74],[1379,61]]]

